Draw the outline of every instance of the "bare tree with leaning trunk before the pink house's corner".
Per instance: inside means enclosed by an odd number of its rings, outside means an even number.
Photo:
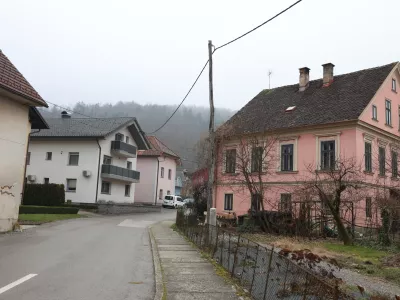
[[[352,235],[346,229],[341,210],[344,202],[354,204],[364,199],[365,175],[355,158],[339,158],[331,166],[324,170],[307,166],[309,177],[300,184],[300,192],[318,196],[322,211],[332,216],[339,237],[345,245],[351,245]]]

